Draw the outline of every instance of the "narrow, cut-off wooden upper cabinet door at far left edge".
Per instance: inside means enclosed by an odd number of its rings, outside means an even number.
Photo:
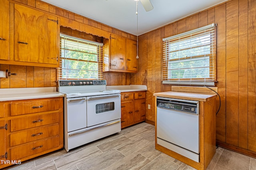
[[[0,2],[0,59],[9,59],[9,1]]]

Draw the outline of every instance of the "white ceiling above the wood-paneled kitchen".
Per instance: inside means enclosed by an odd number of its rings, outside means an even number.
[[[227,0],[151,0],[154,9],[146,12],[134,0],[42,0],[122,31],[141,35]]]

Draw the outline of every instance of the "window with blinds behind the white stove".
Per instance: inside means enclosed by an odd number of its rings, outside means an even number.
[[[102,79],[102,45],[61,34],[59,79]]]

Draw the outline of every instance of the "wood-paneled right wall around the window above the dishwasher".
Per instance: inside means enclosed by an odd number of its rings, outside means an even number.
[[[256,1],[230,0],[139,36],[138,73],[131,84],[148,86],[146,119],[154,122],[153,93],[162,85],[162,38],[217,23],[217,87],[221,108],[217,143],[256,156]],[[217,106],[219,104],[217,102]]]

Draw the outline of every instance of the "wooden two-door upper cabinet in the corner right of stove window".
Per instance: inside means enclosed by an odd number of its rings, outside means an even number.
[[[137,72],[137,42],[111,34],[104,40],[103,71]]]

